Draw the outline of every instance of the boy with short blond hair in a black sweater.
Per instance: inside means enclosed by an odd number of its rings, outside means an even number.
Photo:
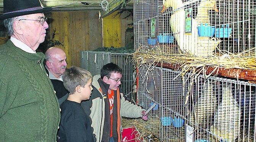
[[[70,92],[61,105],[58,142],[93,142],[90,117],[81,107],[92,91],[92,75],[89,71],[71,66],[63,74],[64,87]]]

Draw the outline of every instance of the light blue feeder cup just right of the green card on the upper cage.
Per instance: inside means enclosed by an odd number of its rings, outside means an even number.
[[[203,25],[201,23],[198,28],[198,35],[203,37],[212,37],[215,33],[215,27],[208,26],[208,24]]]

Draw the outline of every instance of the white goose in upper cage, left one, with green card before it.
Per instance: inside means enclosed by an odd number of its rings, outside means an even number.
[[[202,3],[207,3],[207,1]],[[212,55],[212,51],[219,45],[220,41],[215,38],[212,40],[208,37],[198,37],[198,22],[194,18],[192,18],[191,34],[185,34],[185,9],[183,2],[181,0],[164,0],[162,12],[168,7],[172,7],[174,11],[170,17],[170,27],[180,50],[184,54],[196,56]],[[200,20],[200,17],[197,20]]]

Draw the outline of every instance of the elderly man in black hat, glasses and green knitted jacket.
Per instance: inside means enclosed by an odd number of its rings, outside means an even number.
[[[3,142],[56,141],[60,109],[36,49],[49,27],[39,0],[4,0],[11,38],[0,46],[0,139]]]

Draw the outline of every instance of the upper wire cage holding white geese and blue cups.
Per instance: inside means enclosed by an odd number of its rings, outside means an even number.
[[[255,0],[134,0],[138,52],[255,57],[255,26]]]

